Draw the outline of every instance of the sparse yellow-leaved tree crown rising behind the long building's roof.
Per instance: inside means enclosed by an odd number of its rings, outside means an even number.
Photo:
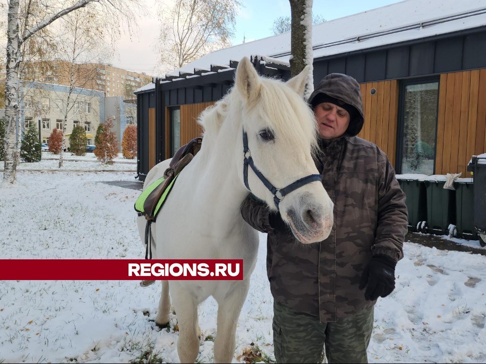
[[[176,0],[159,10],[159,64],[178,69],[229,47],[239,0]]]

